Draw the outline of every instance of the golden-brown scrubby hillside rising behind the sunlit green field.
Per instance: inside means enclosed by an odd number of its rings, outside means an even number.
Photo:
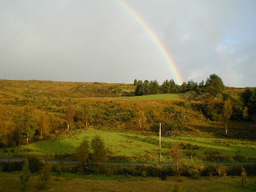
[[[226,88],[225,92],[238,97],[243,90]],[[0,80],[1,145],[86,127],[150,134],[158,131],[160,122],[165,136],[225,136],[220,99],[183,100],[180,93],[122,97],[133,92],[133,84]],[[32,131],[26,131],[24,122],[31,123]],[[251,124],[231,122],[228,137],[255,138]]]

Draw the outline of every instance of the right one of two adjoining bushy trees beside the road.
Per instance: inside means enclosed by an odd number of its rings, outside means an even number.
[[[99,136],[95,136],[91,141],[92,147],[92,160],[95,164],[102,163],[106,161],[107,158],[107,150],[104,140]]]

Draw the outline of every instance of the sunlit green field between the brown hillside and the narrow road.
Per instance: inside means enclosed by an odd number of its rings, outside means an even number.
[[[109,156],[130,157],[133,162],[158,162],[159,136],[143,135],[125,132],[100,131],[95,129],[70,131],[68,134],[58,136],[54,140],[40,141],[29,145],[1,148],[1,157],[22,156],[36,154],[44,157],[45,154],[56,158],[60,154],[72,154],[84,137],[92,139],[99,135],[104,139]],[[182,160],[186,162],[202,162],[207,153],[213,152],[220,156],[251,157],[255,161],[256,143],[250,140],[195,138],[195,137],[162,137],[161,154],[163,162],[172,162],[168,154],[174,143],[181,142]],[[226,159],[234,161],[234,159]],[[225,159],[224,159],[225,161]]]

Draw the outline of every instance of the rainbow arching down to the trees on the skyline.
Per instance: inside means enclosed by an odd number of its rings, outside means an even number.
[[[159,38],[157,38],[154,31],[152,31],[152,29],[150,29],[150,27],[140,17],[140,15],[138,15],[138,13],[136,13],[132,9],[132,7],[129,6],[129,4],[127,4],[124,0],[119,0],[118,3],[121,4],[122,7],[124,7],[124,9],[132,15],[134,20],[136,20],[136,22],[138,22],[140,24],[140,26],[147,32],[147,34],[148,34],[148,36],[150,36],[152,42],[154,42],[154,44],[156,44],[156,46],[159,49],[159,51],[161,52],[161,54],[163,54],[164,60],[166,61],[166,63],[168,63],[168,66],[171,68],[172,73],[175,76],[174,80],[177,81],[177,84],[182,84],[184,81],[182,80],[182,76],[180,75],[180,72],[179,72],[177,66],[175,65],[172,57],[170,56],[170,54],[168,53],[168,51],[166,50],[164,45],[160,42]]]

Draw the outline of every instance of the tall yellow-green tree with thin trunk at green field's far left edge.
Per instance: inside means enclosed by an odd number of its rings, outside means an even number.
[[[29,143],[29,135],[35,134],[36,130],[36,119],[35,116],[35,110],[29,106],[24,109],[23,115],[22,115],[22,129],[20,132],[22,134],[26,134],[26,144]]]

